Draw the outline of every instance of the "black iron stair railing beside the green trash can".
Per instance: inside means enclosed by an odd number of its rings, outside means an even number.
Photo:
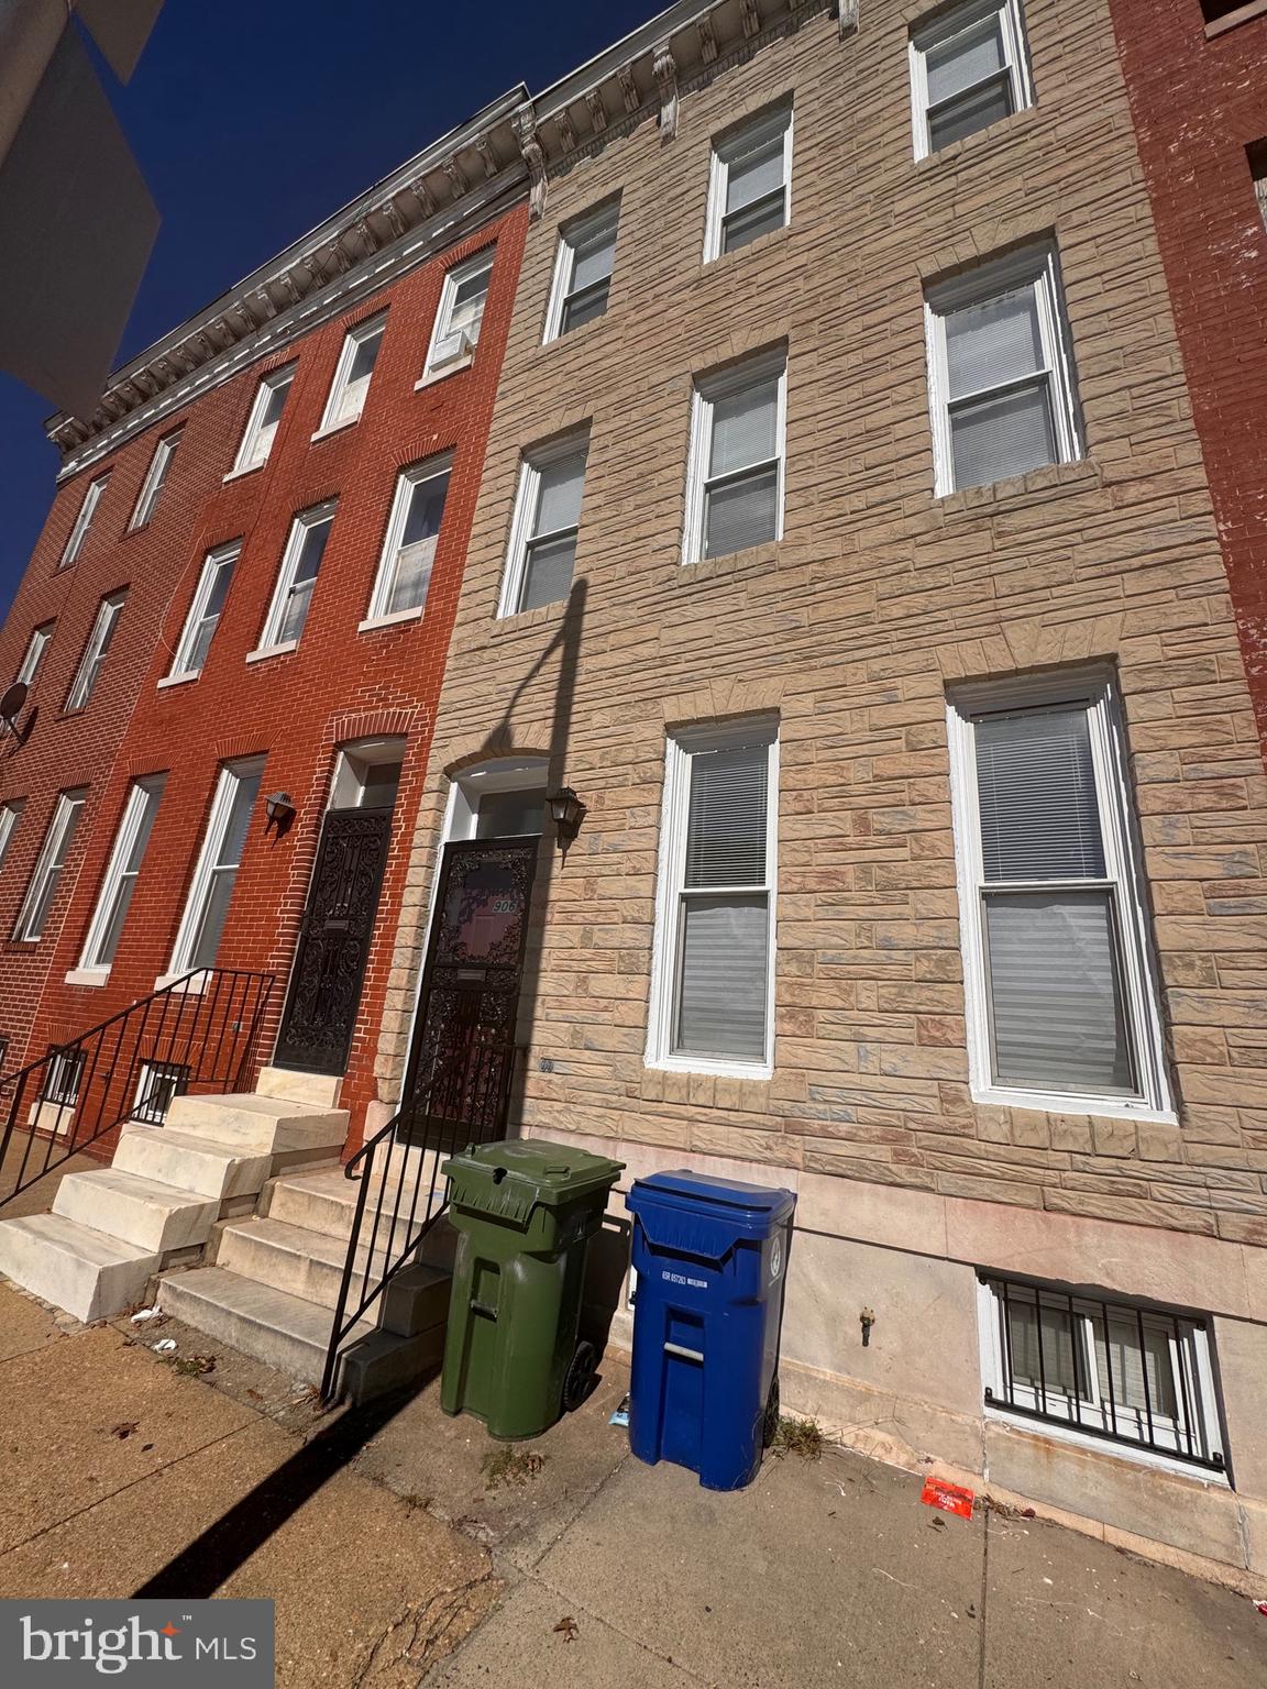
[[[399,1272],[417,1260],[448,1206],[441,1164],[505,1128],[515,1045],[468,1029],[456,1049],[436,1054],[416,1078],[409,1103],[345,1165],[360,1181],[343,1280],[321,1375],[323,1402],[338,1392],[340,1353]],[[353,1294],[353,1280],[360,1287]]]

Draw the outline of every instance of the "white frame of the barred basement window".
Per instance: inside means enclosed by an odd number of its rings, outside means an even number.
[[[1184,1454],[1179,1453],[1179,1439],[1181,1436],[1186,1437],[1184,1420],[1176,1422],[1169,1415],[1154,1412],[1154,1439],[1157,1439],[1157,1432],[1171,1436],[1176,1447],[1174,1451],[1150,1449],[1142,1441],[1118,1441],[1117,1437],[1096,1436],[1095,1431],[1079,1427],[1073,1402],[1068,1398],[1066,1392],[1059,1390],[1059,1387],[1051,1385],[1047,1388],[1044,1407],[1039,1390],[1014,1378],[1012,1397],[1017,1407],[1022,1409],[1017,1412],[1007,1402],[1007,1312],[1003,1297],[998,1295],[998,1287],[1003,1284],[1012,1292],[1037,1292],[1039,1299],[1044,1299],[1046,1306],[1049,1306],[1052,1312],[1064,1316],[1068,1316],[1069,1299],[1073,1299],[1073,1316],[1078,1322],[1079,1336],[1076,1370],[1086,1382],[1086,1395],[1078,1397],[1081,1417],[1085,1420],[1098,1417],[1105,1431],[1113,1429],[1113,1419],[1107,1410],[1107,1402],[1101,1398],[1100,1377],[1095,1365],[1095,1319],[1101,1312],[1101,1307],[1107,1306],[1110,1316],[1142,1319],[1145,1328],[1150,1328],[1152,1331],[1161,1329],[1166,1334],[1167,1350],[1171,1353],[1176,1398],[1181,1404],[1191,1402],[1198,1410],[1193,1419],[1194,1441],[1203,1442],[1206,1458],[1213,1458],[1213,1454],[1225,1456],[1226,1453],[1223,1447],[1223,1424],[1218,1412],[1218,1395],[1215,1392],[1210,1331],[1204,1321],[1194,1319],[1191,1314],[1184,1314],[1179,1309],[1174,1309],[1172,1312],[1156,1312],[1154,1309],[1127,1297],[1110,1294],[1086,1297],[1079,1295],[1079,1292],[1073,1287],[1059,1284],[1034,1284],[1030,1280],[1014,1279],[1007,1274],[980,1274],[976,1279],[976,1329],[982,1355],[982,1380],[985,1390],[988,1392],[985,1400],[987,1419],[1009,1426],[1019,1426],[1029,1432],[1052,1437],[1059,1442],[1069,1442],[1076,1447],[1095,1449],[1100,1454],[1115,1454],[1122,1459],[1139,1461],[1147,1466],[1161,1468],[1162,1471],[1183,1473],[1186,1478],[1199,1478],[1204,1483],[1221,1485],[1226,1488],[1226,1469],[1216,1471],[1210,1466],[1186,1459]],[[1183,1328],[1183,1341],[1179,1343],[1176,1343],[1174,1333],[1169,1329],[1172,1321],[1177,1321]],[[1061,1400],[1061,1397],[1066,1398]],[[1122,1431],[1122,1420],[1128,1420],[1132,1415],[1139,1419],[1139,1410],[1127,1405],[1118,1409],[1118,1436],[1127,1436],[1127,1432]],[[1204,1431],[1204,1437],[1201,1437],[1201,1431]]]

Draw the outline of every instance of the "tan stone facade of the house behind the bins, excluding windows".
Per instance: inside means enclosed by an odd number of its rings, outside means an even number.
[[[1107,0],[1029,0],[1036,105],[916,162],[909,24],[801,7],[613,125],[532,225],[380,1045],[399,1094],[449,779],[551,758],[517,1120],[799,1189],[786,1358],[858,1439],[1267,1569],[1267,780]],[[791,225],[703,263],[713,137],[794,103]],[[610,309],[542,345],[557,231],[620,194]],[[924,287],[1054,236],[1083,461],[934,497]],[[682,566],[693,377],[787,346],[786,525]],[[579,424],[571,601],[495,620],[520,453]],[[973,1101],[946,687],[1112,664],[1177,1123]],[[775,1064],[645,1062],[666,731],[779,718]],[[552,1071],[542,1071],[542,1062]],[[742,1164],[742,1165],[735,1165]],[[752,1165],[759,1164],[759,1165]],[[804,1265],[802,1265],[804,1263]],[[1237,1490],[982,1419],[975,1268],[1215,1316]],[[877,1338],[858,1343],[858,1307]],[[620,1328],[618,1328],[620,1329]],[[931,1365],[931,1356],[951,1356]],[[868,1429],[870,1427],[870,1429]],[[1159,1500],[1161,1496],[1161,1500]],[[1259,1498],[1259,1505],[1255,1505]]]

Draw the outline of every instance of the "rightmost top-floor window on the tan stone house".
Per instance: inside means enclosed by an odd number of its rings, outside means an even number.
[[[1034,105],[1020,0],[968,0],[911,32],[916,157]]]

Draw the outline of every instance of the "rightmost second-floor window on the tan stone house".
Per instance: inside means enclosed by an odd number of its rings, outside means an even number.
[[[1081,458],[1054,248],[934,287],[927,341],[939,495]]]

